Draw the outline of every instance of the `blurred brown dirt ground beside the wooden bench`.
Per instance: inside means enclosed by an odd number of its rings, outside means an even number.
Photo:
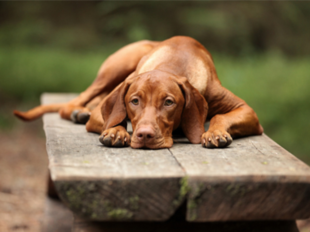
[[[47,176],[41,120],[16,121],[13,130],[0,131],[0,232],[41,231]],[[310,232],[310,220],[298,226]]]

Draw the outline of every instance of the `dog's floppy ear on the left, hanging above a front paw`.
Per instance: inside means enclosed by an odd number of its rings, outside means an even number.
[[[125,95],[132,80],[125,80],[119,84],[106,98],[101,106],[101,114],[104,120],[103,131],[108,128],[122,124],[127,125],[124,120],[127,118]]]

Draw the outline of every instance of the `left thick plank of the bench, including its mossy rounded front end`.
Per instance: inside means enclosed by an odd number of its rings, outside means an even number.
[[[45,94],[42,102],[59,96]],[[183,202],[184,171],[168,149],[107,148],[99,135],[58,114],[44,115],[43,122],[52,180],[76,214],[93,220],[164,221]]]

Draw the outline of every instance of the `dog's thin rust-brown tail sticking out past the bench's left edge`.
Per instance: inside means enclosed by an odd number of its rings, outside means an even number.
[[[16,117],[24,121],[33,121],[40,118],[45,113],[58,112],[60,108],[64,107],[66,103],[51,104],[51,105],[39,105],[26,112],[14,110],[13,113]]]

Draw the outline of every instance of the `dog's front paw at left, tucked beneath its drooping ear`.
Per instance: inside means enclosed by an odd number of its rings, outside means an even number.
[[[107,147],[127,147],[130,144],[130,135],[122,126],[111,127],[99,137],[100,143]]]

